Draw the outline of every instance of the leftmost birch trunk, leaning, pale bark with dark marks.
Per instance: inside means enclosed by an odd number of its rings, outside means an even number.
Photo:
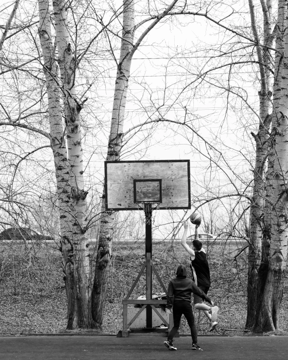
[[[60,106],[60,94],[57,79],[57,63],[51,35],[51,20],[49,0],[39,0],[39,37],[43,54],[43,68],[48,94],[48,113],[53,151],[57,198],[60,215],[61,253],[64,282],[67,295],[68,325],[73,319],[74,312],[74,276],[73,276],[73,244],[72,228],[70,227],[70,186],[69,169],[65,143],[63,140],[63,125]]]

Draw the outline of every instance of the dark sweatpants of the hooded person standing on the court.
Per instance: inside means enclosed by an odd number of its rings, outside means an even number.
[[[173,341],[173,337],[175,336],[176,332],[179,329],[182,314],[184,314],[187,323],[190,327],[193,344],[197,343],[197,331],[195,326],[193,309],[191,304],[188,303],[187,301],[176,301],[173,304],[174,326],[168,335],[168,340]]]

